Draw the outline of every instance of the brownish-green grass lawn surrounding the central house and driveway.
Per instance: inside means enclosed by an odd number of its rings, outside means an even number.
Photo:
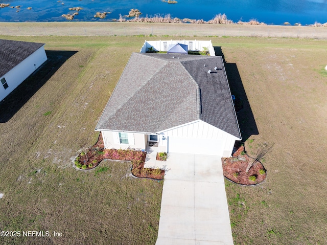
[[[0,104],[0,228],[63,234],[0,243],[154,244],[162,182],[126,178],[129,163],[105,162],[95,174],[72,162],[96,142],[102,110],[145,37],[0,38],[44,42],[49,57]],[[210,39],[243,102],[238,117],[249,155],[274,143],[263,184],[226,181],[235,244],[327,244],[327,41]]]

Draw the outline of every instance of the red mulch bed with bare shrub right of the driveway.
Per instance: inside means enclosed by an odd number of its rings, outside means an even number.
[[[264,169],[265,167],[262,165],[261,162],[256,162],[250,170],[246,173],[245,170],[248,166],[250,157],[247,154],[244,154],[245,149],[242,145],[233,155],[231,158],[223,158],[222,165],[223,165],[223,172],[224,176],[237,184],[241,185],[256,185],[263,182],[266,179],[266,171],[263,174],[260,174],[260,169]],[[244,155],[242,155],[242,153]],[[239,160],[238,157],[242,157],[245,161]],[[255,176],[256,180],[251,181],[249,180],[250,176]]]

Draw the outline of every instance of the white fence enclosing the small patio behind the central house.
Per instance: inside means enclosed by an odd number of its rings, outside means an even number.
[[[215,49],[211,40],[158,40],[158,41],[145,41],[140,53],[146,53],[149,49],[153,51],[168,51],[169,46],[172,44],[185,44],[188,46],[189,51],[209,51],[211,56],[215,56]]]

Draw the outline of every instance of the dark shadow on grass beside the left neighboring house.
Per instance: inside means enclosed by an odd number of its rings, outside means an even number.
[[[45,51],[45,53],[48,60],[0,102],[0,123],[8,122],[77,51]]]

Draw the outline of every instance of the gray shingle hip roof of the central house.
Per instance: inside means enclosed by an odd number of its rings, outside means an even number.
[[[222,57],[133,53],[96,130],[155,133],[198,119],[241,139]]]

